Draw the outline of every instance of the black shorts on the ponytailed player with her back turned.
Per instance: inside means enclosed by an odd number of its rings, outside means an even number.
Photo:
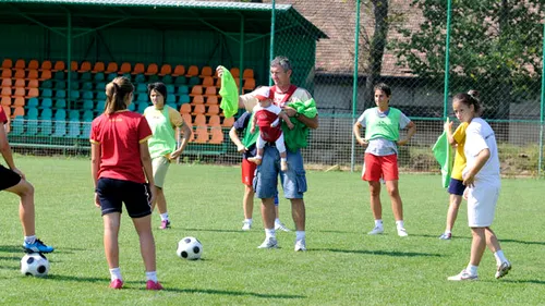
[[[100,178],[97,182],[102,216],[122,212],[123,203],[131,218],[152,215],[149,185],[123,180]]]

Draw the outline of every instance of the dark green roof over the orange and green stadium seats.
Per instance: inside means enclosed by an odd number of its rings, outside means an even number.
[[[246,34],[270,32],[271,4],[178,0],[4,0],[0,24],[39,24],[50,28],[202,29],[239,33],[244,20]],[[303,17],[291,4],[277,4],[276,28],[301,27],[316,40],[327,35]]]

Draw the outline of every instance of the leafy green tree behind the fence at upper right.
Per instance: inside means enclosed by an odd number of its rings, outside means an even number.
[[[399,64],[432,86],[445,76],[447,1],[414,0],[419,30],[398,27],[391,41]],[[477,89],[484,117],[507,119],[509,105],[540,93],[543,0],[452,0],[450,94]]]

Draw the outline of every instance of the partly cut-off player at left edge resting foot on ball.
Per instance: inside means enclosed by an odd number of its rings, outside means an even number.
[[[13,161],[13,154],[8,142],[8,135],[3,125],[8,123],[8,118],[0,108],[0,151],[3,160],[8,163],[8,168],[0,164],[0,191],[7,191],[16,194],[20,198],[19,216],[21,224],[23,225],[24,242],[23,248],[26,253],[51,253],[52,246],[44,244],[40,240],[36,238],[35,227],[35,212],[34,212],[34,186],[31,185],[25,179],[25,174],[15,167]]]

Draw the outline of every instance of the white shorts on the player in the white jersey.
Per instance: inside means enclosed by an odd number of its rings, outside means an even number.
[[[470,228],[486,228],[492,225],[499,197],[499,186],[481,185],[467,188],[468,192],[468,224]]]

